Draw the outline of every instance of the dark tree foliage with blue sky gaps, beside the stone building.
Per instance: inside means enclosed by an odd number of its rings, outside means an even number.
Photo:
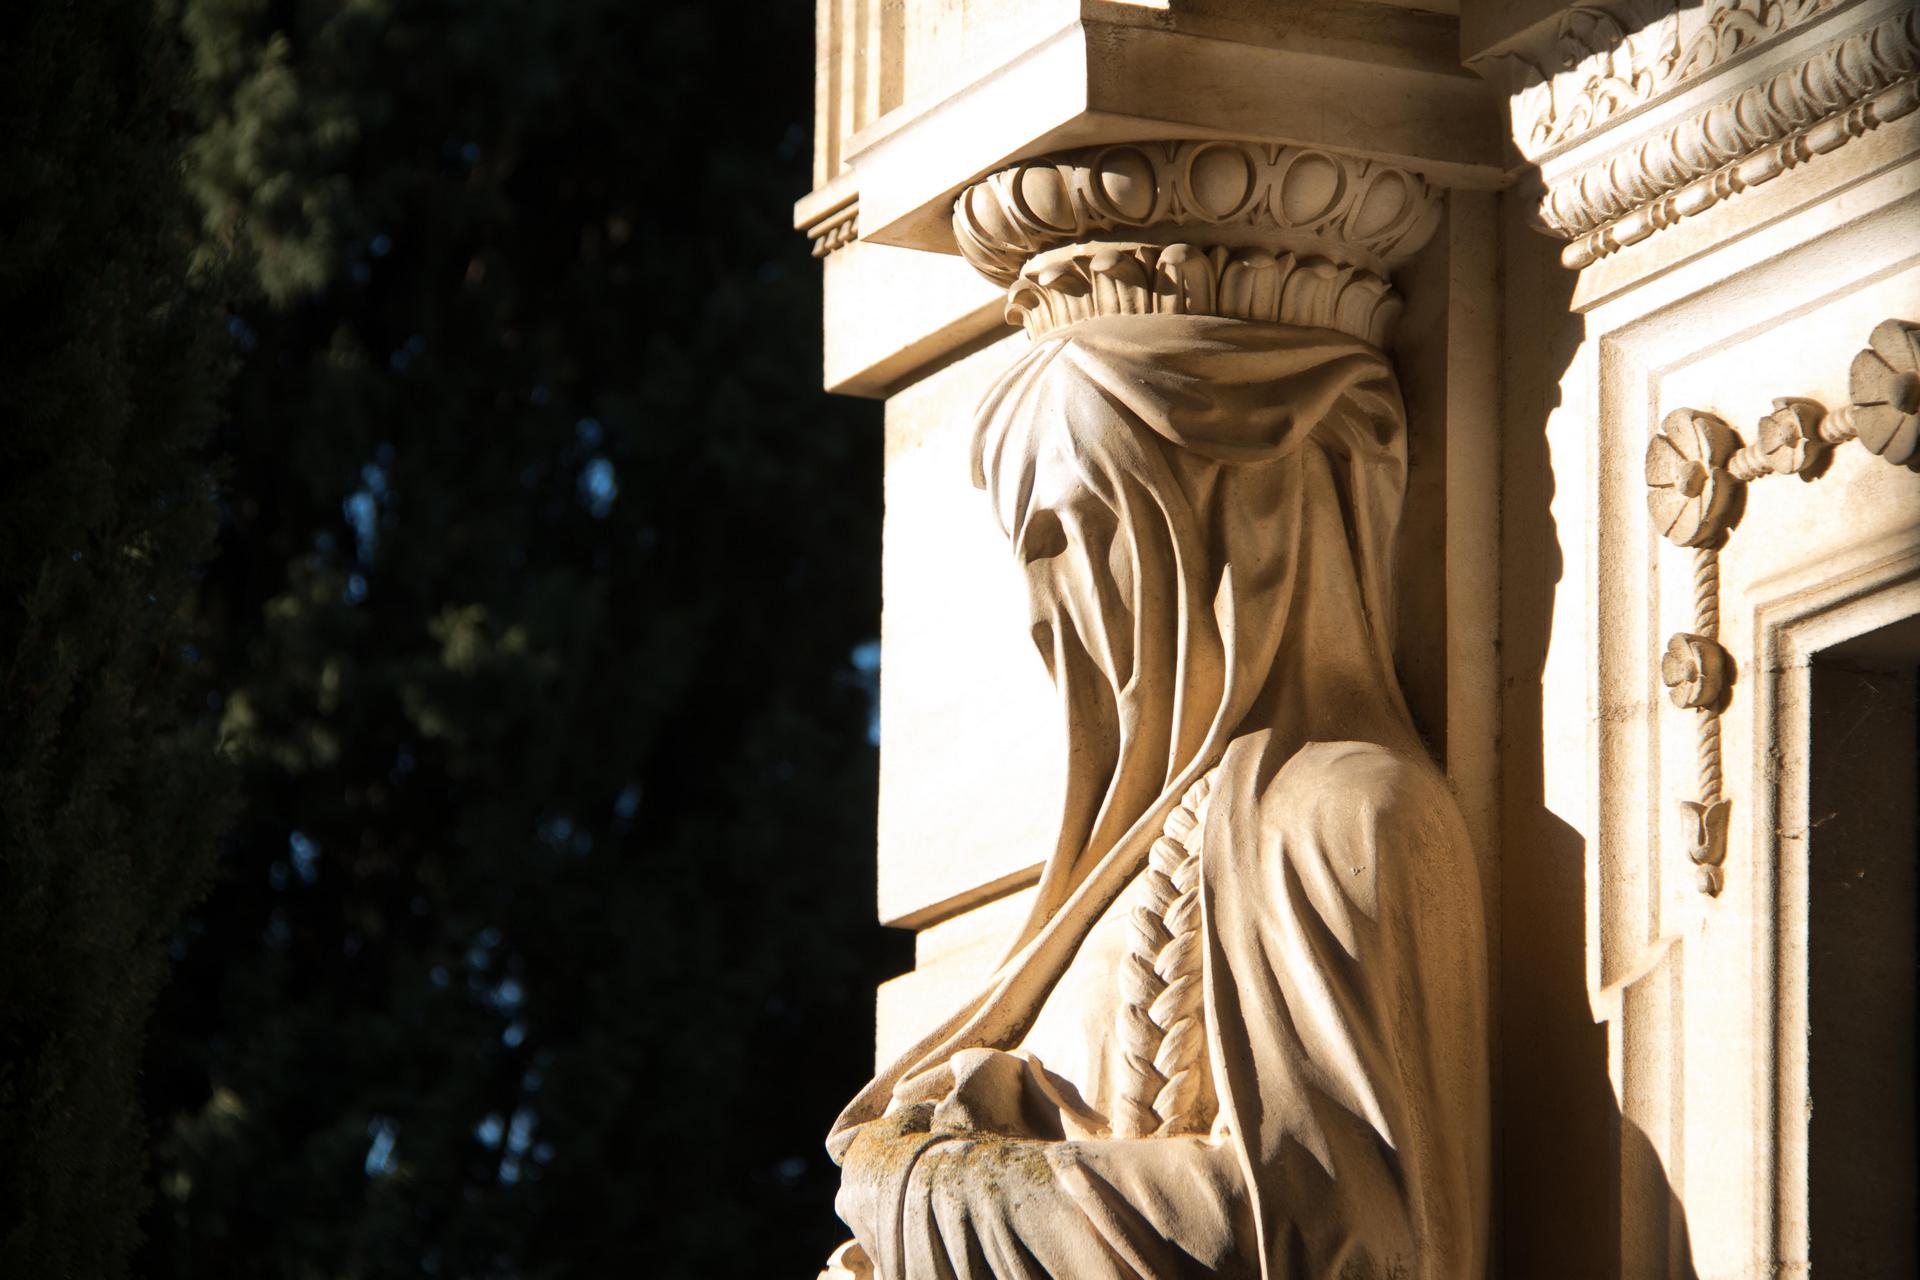
[[[864,1079],[879,439],[806,6],[186,0],[244,773],[150,1276],[808,1274]]]

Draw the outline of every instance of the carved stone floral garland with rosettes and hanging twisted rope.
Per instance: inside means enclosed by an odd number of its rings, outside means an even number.
[[[1663,537],[1693,551],[1693,629],[1667,641],[1659,674],[1674,706],[1699,714],[1699,798],[1682,800],[1680,810],[1688,860],[1705,894],[1718,894],[1724,883],[1730,802],[1720,793],[1720,714],[1738,674],[1720,645],[1718,549],[1740,518],[1747,484],[1811,480],[1828,451],[1849,439],[1895,466],[1920,466],[1920,324],[1876,324],[1847,382],[1851,403],[1832,413],[1812,399],[1776,399],[1751,443],[1699,409],[1674,409],[1647,441],[1647,514]]]

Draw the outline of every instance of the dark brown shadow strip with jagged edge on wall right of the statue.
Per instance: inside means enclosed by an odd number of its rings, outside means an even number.
[[[1507,332],[1501,453],[1501,883],[1494,1274],[1501,1280],[1693,1280],[1678,1194],[1647,1136],[1620,1113],[1607,1027],[1586,990],[1586,841],[1546,800],[1542,699],[1555,591],[1546,422],[1584,322],[1559,246],[1501,215]],[[1559,459],[1567,476],[1586,466]]]

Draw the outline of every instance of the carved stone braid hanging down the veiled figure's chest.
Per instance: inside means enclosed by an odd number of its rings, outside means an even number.
[[[1196,1134],[1213,1121],[1200,983],[1200,829],[1210,789],[1208,777],[1188,787],[1137,881],[1133,946],[1119,967],[1119,1138]]]

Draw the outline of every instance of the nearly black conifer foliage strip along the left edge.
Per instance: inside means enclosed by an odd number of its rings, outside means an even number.
[[[127,1272],[138,1063],[227,777],[186,714],[217,315],[148,0],[0,15],[0,1274]]]

